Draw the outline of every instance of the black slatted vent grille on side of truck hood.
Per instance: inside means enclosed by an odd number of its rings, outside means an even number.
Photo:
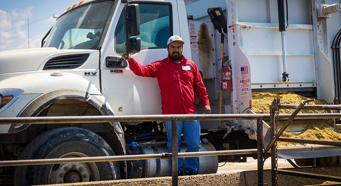
[[[75,69],[83,65],[90,54],[58,56],[48,60],[43,70]]]

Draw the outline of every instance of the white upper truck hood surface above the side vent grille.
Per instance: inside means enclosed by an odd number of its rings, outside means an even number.
[[[48,48],[28,48],[0,52],[0,74],[36,71],[42,62],[55,54],[74,53],[84,50]]]

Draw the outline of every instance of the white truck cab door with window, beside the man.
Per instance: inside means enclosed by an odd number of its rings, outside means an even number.
[[[177,10],[173,3],[139,2],[141,51],[131,54],[142,65],[167,57],[167,40],[179,32],[172,26]],[[176,6],[176,2],[174,2]],[[116,14],[101,49],[102,94],[116,115],[161,114],[160,88],[156,78],[136,76],[126,61],[119,61],[125,52],[123,27],[124,4],[118,3]],[[173,23],[174,25],[178,24]]]

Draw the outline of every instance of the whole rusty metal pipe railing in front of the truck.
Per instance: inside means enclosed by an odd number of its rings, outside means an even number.
[[[272,105],[273,106],[273,105]],[[280,108],[300,108],[300,109],[318,109],[321,110],[341,110],[339,105],[280,105]],[[297,109],[296,109],[297,110]],[[295,111],[296,112],[296,111]],[[295,113],[294,112],[294,113]],[[297,112],[298,113],[298,112]],[[341,113],[319,113],[319,114],[279,114],[278,119],[327,119],[341,118]],[[123,156],[101,156],[101,157],[79,157],[79,158],[55,158],[55,159],[32,159],[32,160],[11,160],[0,161],[0,166],[22,166],[33,164],[55,164],[55,163],[70,163],[70,162],[99,162],[99,161],[121,161],[121,160],[141,160],[141,159],[172,159],[172,185],[178,185],[178,157],[197,157],[197,156],[221,156],[233,154],[256,154],[258,155],[258,184],[263,185],[263,155],[267,153],[266,149],[270,149],[271,142],[264,150],[263,148],[263,119],[270,119],[271,126],[274,122],[274,112],[270,106],[270,114],[196,114],[196,115],[134,115],[134,116],[58,116],[58,117],[1,117],[0,125],[6,124],[58,124],[58,123],[106,123],[106,122],[124,122],[124,121],[172,121],[172,141],[178,141],[177,121],[178,120],[257,120],[257,149],[246,150],[230,150],[230,151],[207,151],[207,152],[192,152],[178,153],[177,143],[172,144],[172,152],[149,155],[123,155]],[[272,122],[273,120],[273,122]],[[290,123],[290,122],[289,122]],[[283,129],[284,131],[284,129]],[[271,134],[273,139],[275,135]],[[327,141],[318,142],[325,145],[302,146],[302,147],[281,147],[278,152],[288,151],[311,151],[324,150],[332,148],[341,148],[338,142]],[[273,143],[274,144],[274,143]],[[326,146],[333,145],[333,146]],[[272,148],[271,148],[272,149]],[[272,152],[272,151],[271,151]],[[272,156],[271,156],[272,162]]]

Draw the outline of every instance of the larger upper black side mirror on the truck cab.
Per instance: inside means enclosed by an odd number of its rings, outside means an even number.
[[[129,37],[140,34],[140,13],[138,4],[129,4],[125,9],[124,22],[124,33]],[[127,29],[127,30],[126,30]]]

